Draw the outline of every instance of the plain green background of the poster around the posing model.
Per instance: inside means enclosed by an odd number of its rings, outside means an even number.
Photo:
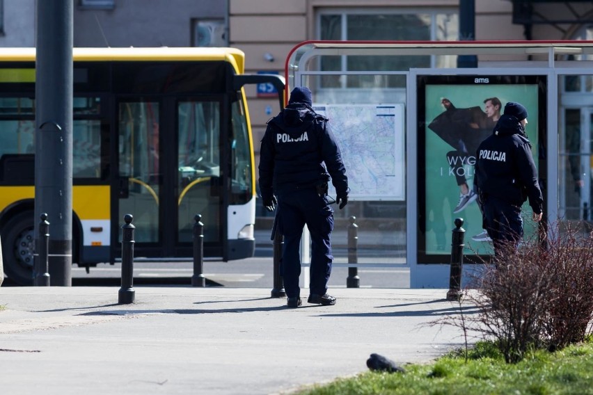
[[[484,111],[484,99],[498,97],[502,103],[500,114],[507,102],[519,102],[528,110],[528,125],[525,132],[532,144],[532,154],[537,166],[539,129],[538,86],[537,84],[500,84],[500,85],[429,85],[425,90],[425,120],[428,125],[445,109],[441,99],[449,99],[456,108],[479,106]],[[491,243],[473,241],[471,238],[482,232],[482,213],[477,202],[473,202],[459,213],[453,213],[459,202],[460,189],[454,175],[450,174],[447,153],[453,148],[445,143],[434,131],[425,128],[425,169],[426,169],[426,205],[425,205],[425,252],[427,255],[449,254],[451,250],[451,230],[454,219],[464,219],[465,253],[473,255],[492,254]],[[475,153],[473,154],[475,156]],[[475,159],[475,157],[474,157]],[[473,161],[472,161],[473,163]],[[473,186],[473,166],[465,166],[465,176],[470,188]],[[535,223],[531,220],[532,211],[528,202],[523,204],[524,239],[535,232]]]

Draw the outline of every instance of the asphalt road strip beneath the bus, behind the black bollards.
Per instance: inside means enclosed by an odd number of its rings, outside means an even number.
[[[363,235],[362,239],[364,238]],[[342,236],[345,239],[345,236]],[[377,239],[377,237],[368,237]],[[204,261],[203,273],[207,287],[274,287],[273,250],[269,241],[269,232],[260,231],[256,234],[257,247],[255,257],[236,261]],[[377,239],[381,243],[380,239]],[[337,243],[338,244],[338,243]],[[330,288],[345,288],[348,268],[348,251],[345,246],[338,244],[333,248],[334,266],[329,281]],[[388,249],[386,249],[388,248]],[[360,287],[368,288],[409,288],[409,267],[405,264],[401,250],[389,249],[388,245],[371,246],[358,249],[357,274]],[[301,287],[307,287],[305,277],[308,268],[303,267],[301,273]],[[141,285],[187,285],[191,284],[193,262],[143,262],[134,261],[134,286]],[[72,266],[72,285],[76,286],[117,286],[121,284],[121,265],[116,263],[98,264],[86,273],[85,268]],[[5,280],[3,287],[15,285]]]

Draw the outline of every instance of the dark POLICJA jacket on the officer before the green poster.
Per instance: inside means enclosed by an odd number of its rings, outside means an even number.
[[[537,182],[531,143],[525,129],[513,115],[502,115],[491,136],[476,152],[475,183],[482,195],[521,206],[529,199],[535,213],[541,213],[544,199]]]

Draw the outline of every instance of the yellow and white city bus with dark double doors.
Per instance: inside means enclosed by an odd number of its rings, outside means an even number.
[[[113,264],[134,215],[137,258],[253,256],[255,164],[246,83],[232,48],[73,49],[72,261]],[[0,49],[0,234],[6,275],[33,282],[35,49]],[[51,218],[49,218],[51,223]],[[49,228],[51,234],[51,225]],[[51,251],[50,251],[51,253]]]

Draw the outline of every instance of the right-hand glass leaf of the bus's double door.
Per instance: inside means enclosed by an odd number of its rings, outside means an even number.
[[[224,257],[226,207],[223,193],[224,148],[221,147],[223,102],[217,99],[179,99],[175,103],[177,146],[175,147],[176,255],[191,256],[196,214],[203,223],[204,255]]]

